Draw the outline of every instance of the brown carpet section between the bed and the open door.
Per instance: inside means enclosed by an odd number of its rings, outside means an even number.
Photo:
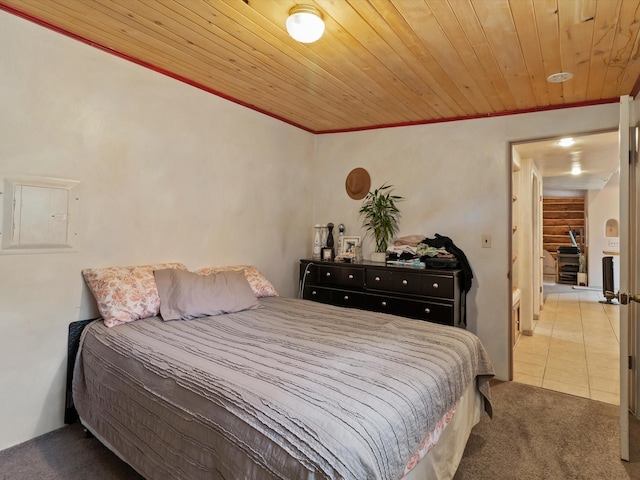
[[[456,480],[640,479],[640,424],[624,462],[617,406],[514,382],[492,395],[494,418],[471,432]]]

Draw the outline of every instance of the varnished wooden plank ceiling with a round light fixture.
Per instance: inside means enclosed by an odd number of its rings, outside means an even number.
[[[325,20],[294,41],[296,5]],[[311,132],[617,101],[640,0],[0,0],[0,8]],[[572,80],[546,78],[571,72]]]

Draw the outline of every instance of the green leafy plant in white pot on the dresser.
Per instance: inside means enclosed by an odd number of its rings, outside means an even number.
[[[373,192],[367,193],[360,208],[362,227],[372,235],[376,243],[376,251],[371,255],[374,262],[384,262],[389,241],[398,232],[400,210],[396,202],[402,197],[392,195],[393,185],[383,184]]]

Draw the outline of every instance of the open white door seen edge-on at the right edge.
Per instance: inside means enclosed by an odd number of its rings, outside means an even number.
[[[636,399],[638,361],[636,341],[640,295],[640,251],[637,215],[638,174],[637,129],[629,128],[631,98],[620,98],[620,458],[629,460],[629,411],[637,413]],[[631,358],[631,361],[630,361]],[[630,368],[631,367],[631,368]],[[631,393],[631,395],[630,395]],[[630,398],[633,402],[630,404]]]

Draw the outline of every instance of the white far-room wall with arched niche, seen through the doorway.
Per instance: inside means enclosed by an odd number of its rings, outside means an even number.
[[[604,251],[619,251],[618,247],[609,245],[609,238],[605,237],[605,226],[610,218],[620,221],[620,174],[615,172],[601,190],[589,190],[586,202],[589,212],[588,282],[590,287],[602,289]],[[613,256],[613,284],[617,292],[620,288],[620,257],[610,254],[607,256]]]

